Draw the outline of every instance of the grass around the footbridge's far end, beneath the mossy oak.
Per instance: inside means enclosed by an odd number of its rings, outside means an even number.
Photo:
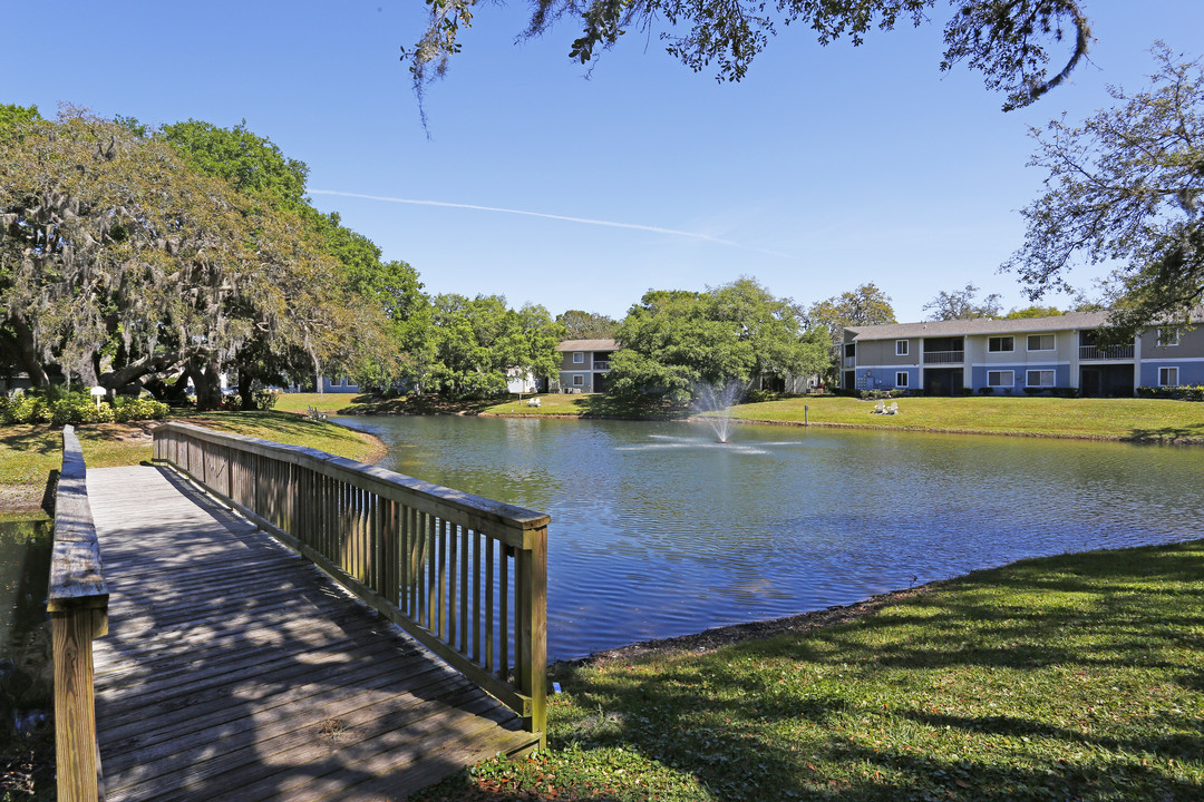
[[[207,412],[178,417],[214,429],[308,446],[341,457],[376,462],[382,444],[334,423],[284,412]],[[89,468],[136,465],[150,459],[150,429],[157,423],[98,423],[76,427]],[[43,495],[63,464],[61,428],[11,426],[0,434],[0,519],[45,516]]]

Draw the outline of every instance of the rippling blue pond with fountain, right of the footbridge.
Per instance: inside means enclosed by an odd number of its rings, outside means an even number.
[[[1204,452],[1032,438],[353,417],[382,467],[551,515],[553,659],[1023,557],[1204,536]]]

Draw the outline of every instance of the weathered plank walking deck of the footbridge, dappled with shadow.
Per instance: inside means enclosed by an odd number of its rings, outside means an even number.
[[[90,469],[107,800],[402,800],[537,743],[513,712],[166,468]]]

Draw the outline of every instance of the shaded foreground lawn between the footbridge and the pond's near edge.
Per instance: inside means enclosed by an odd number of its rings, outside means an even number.
[[[549,751],[421,798],[1204,798],[1202,580],[1199,541],[1027,560],[813,631],[559,665]]]

